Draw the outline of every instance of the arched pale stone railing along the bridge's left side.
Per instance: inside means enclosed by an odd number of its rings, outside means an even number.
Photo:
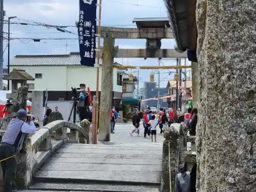
[[[72,140],[67,136],[68,128],[71,130],[70,138],[73,137]],[[0,131],[0,139],[4,133],[5,131]],[[63,143],[91,143],[91,137],[92,130],[87,120],[81,121],[80,126],[68,121],[57,120],[41,127],[35,134],[27,138],[27,153],[15,157],[17,159],[17,188],[19,190],[28,189],[32,183],[32,175]],[[0,182],[3,184],[2,168],[0,174]]]

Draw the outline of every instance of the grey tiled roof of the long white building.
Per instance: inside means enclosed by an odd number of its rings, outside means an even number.
[[[10,66],[80,66],[79,52],[63,55],[16,55]],[[97,59],[96,59],[97,65]],[[102,65],[102,59],[100,59]]]

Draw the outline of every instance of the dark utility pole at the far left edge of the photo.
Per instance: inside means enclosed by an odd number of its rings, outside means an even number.
[[[3,90],[4,16],[4,0],[0,0],[0,90]]]

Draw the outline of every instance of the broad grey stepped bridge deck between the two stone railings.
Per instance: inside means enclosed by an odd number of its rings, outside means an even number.
[[[159,192],[161,148],[162,143],[63,144],[24,192]]]

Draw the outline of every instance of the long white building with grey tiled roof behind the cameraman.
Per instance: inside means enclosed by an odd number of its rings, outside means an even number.
[[[25,70],[35,77],[34,81],[28,81],[29,90],[48,90],[49,101],[71,100],[71,87],[78,88],[80,83],[90,87],[92,96],[96,95],[97,68],[81,66],[78,52],[64,55],[16,55],[10,62],[10,71],[14,68]],[[100,68],[99,96],[101,70]],[[116,108],[120,107],[122,99],[121,72],[117,68],[113,70],[112,105]]]

